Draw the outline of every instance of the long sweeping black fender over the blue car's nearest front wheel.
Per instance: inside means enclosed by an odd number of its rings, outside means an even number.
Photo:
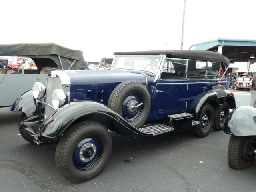
[[[39,128],[40,136],[45,139],[59,139],[73,124],[91,120],[100,122],[109,130],[121,135],[148,135],[129,124],[122,116],[108,106],[95,101],[71,102],[52,113]]]

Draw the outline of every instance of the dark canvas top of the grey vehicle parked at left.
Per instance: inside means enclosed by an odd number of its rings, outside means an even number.
[[[37,67],[58,67],[62,70],[88,69],[83,52],[54,43],[0,44],[1,56],[29,57]]]

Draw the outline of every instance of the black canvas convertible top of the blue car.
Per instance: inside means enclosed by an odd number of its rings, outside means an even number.
[[[194,59],[202,61],[224,62],[229,65],[228,58],[213,51],[204,50],[156,50],[156,51],[135,51],[135,52],[115,52],[114,55],[166,55],[171,58]]]

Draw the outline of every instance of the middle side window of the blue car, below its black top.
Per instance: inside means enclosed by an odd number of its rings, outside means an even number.
[[[188,79],[204,79],[206,78],[206,61],[188,60]]]

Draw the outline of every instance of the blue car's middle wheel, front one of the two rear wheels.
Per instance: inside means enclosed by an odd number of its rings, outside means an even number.
[[[200,112],[198,121],[200,124],[193,128],[193,132],[198,137],[207,136],[214,124],[214,109],[210,104],[205,104]]]

